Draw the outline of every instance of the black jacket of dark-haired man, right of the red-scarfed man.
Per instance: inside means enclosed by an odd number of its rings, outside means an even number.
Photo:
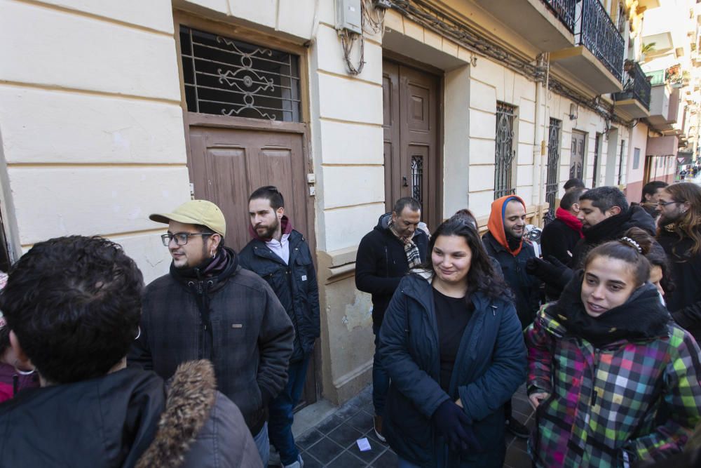
[[[584,237],[574,248],[571,269],[584,267],[584,259],[592,248],[600,243],[620,239],[631,227],[644,229],[651,236],[655,235],[655,220],[639,205],[632,205],[625,213],[611,216],[583,231]]]

